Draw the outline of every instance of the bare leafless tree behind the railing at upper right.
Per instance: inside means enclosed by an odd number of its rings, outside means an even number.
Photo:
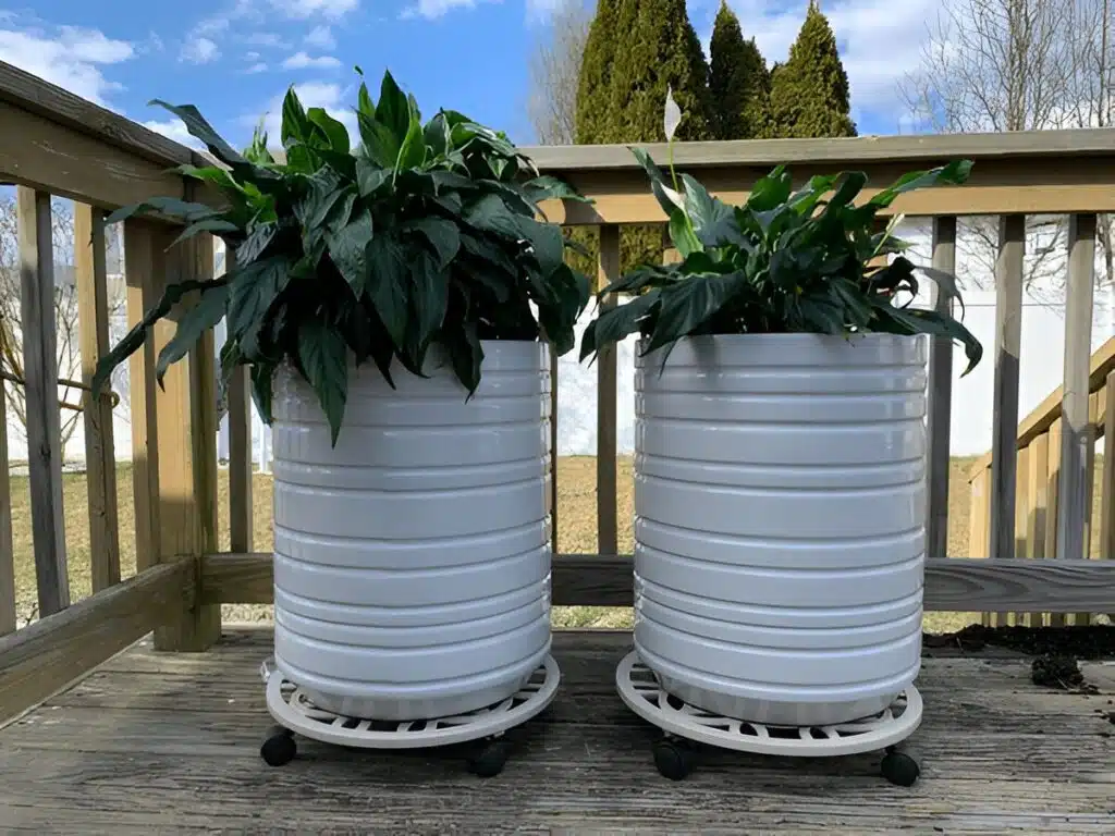
[[[921,65],[899,90],[913,124],[941,133],[1101,127],[1115,113],[1113,0],[943,0]],[[1115,230],[1099,218],[1104,271],[1115,280]],[[1027,218],[1030,292],[1064,286],[1063,217]],[[963,255],[993,274],[993,218],[961,222]]]

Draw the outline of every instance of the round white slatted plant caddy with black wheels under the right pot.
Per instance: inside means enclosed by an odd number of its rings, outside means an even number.
[[[655,766],[672,780],[689,775],[699,743],[757,755],[808,758],[884,749],[882,775],[886,780],[903,787],[918,780],[918,762],[898,750],[898,745],[921,722],[921,694],[913,686],[872,717],[835,726],[782,727],[719,717],[687,704],[662,690],[637,651],[620,662],[615,683],[628,708],[665,732],[653,746]]]

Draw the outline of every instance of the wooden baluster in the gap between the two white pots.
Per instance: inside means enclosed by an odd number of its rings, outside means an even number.
[[[620,227],[604,224],[600,227],[598,291],[620,276]],[[609,294],[601,302],[601,310],[615,307],[615,295]],[[615,346],[602,348],[597,354],[597,551],[601,554],[619,552],[619,523],[615,506]]]

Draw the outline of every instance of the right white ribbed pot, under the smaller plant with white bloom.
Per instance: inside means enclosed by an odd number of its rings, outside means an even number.
[[[640,349],[641,350],[641,349]],[[681,340],[636,367],[636,647],[778,725],[882,710],[921,664],[923,338]]]

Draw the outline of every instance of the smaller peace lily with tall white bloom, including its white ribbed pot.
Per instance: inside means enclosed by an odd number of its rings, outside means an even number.
[[[905,193],[963,183],[971,163],[866,200],[863,173],[795,188],[778,166],[733,206],[676,171],[680,120],[670,95],[668,175],[632,153],[681,261],[604,288],[628,299],[601,309],[581,344],[584,359],[641,338],[636,653],[665,691],[714,716],[878,716],[911,696],[921,659],[925,336],[963,346],[966,373],[982,353],[950,313],[912,305],[919,273],[950,299],[957,280],[910,261],[900,218],[880,230],[880,215]],[[670,777],[683,766],[661,765],[686,762],[656,760]],[[896,762],[884,772],[906,781]]]

